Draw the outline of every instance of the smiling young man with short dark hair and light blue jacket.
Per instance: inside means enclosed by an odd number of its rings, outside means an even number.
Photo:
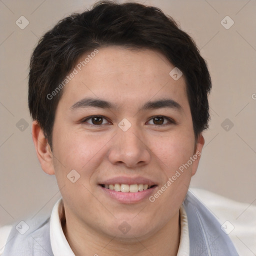
[[[210,88],[192,39],[155,7],[99,2],[58,22],[33,51],[28,101],[62,198],[2,255],[238,255],[188,192]]]

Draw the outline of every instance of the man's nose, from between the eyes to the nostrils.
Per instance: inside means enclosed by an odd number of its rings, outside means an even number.
[[[132,126],[127,131],[118,128],[108,151],[112,164],[134,168],[149,163],[150,149],[143,134]]]

